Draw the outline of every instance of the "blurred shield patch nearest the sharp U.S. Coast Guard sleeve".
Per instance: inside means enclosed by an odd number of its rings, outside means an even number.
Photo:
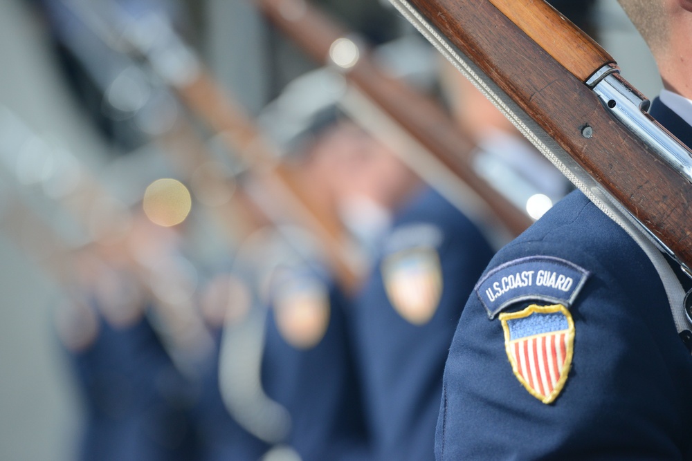
[[[382,263],[387,296],[401,317],[414,325],[428,323],[442,293],[437,252],[430,247],[403,250]]]

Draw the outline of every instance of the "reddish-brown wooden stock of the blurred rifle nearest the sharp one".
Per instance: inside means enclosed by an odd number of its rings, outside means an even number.
[[[338,39],[349,37],[347,31],[304,0],[256,3],[266,17],[320,64],[331,62],[331,46]],[[357,62],[340,69],[348,81],[473,190],[511,234],[516,236],[529,227],[531,218],[475,173],[475,145],[470,137],[438,104],[383,73],[372,62],[365,46],[358,48]]]

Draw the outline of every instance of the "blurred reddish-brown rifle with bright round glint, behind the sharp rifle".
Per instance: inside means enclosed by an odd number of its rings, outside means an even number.
[[[532,220],[525,211],[515,207],[475,173],[476,146],[471,136],[462,132],[439,104],[381,70],[361,40],[304,0],[256,0],[255,3],[275,26],[316,62],[334,64],[343,72],[355,87],[355,96],[361,101],[361,106],[365,104],[370,109],[367,112],[349,111],[356,120],[363,116],[362,113],[381,113],[383,117],[376,122],[393,122],[400,136],[410,138],[410,144],[421,146],[415,153],[416,157],[421,157],[419,154],[422,153],[427,158],[423,160],[425,164],[421,165],[419,158],[409,159],[406,155],[403,160],[434,187],[442,189],[441,193],[450,202],[459,205],[458,196],[463,195],[465,200],[460,207],[464,211],[481,223],[499,221],[513,236],[531,225]],[[349,49],[352,61],[345,59],[349,56]],[[373,123],[365,121],[363,125],[372,126]],[[451,173],[455,182],[462,182],[462,194],[457,193],[458,188],[447,193],[446,187],[434,177],[435,173],[432,173],[433,177],[425,177],[426,171],[430,170],[426,164],[437,171],[439,165]],[[492,216],[488,216],[488,211]]]

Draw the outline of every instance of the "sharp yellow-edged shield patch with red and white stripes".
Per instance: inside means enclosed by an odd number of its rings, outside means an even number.
[[[529,305],[500,314],[504,347],[514,375],[544,404],[560,395],[572,365],[574,321],[561,304]]]

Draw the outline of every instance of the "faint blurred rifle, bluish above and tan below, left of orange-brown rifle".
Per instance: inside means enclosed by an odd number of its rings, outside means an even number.
[[[99,21],[95,7],[59,0],[46,8],[57,37],[103,94],[102,111],[128,120],[138,134],[163,145],[193,193],[203,189],[197,198],[221,220],[233,243],[262,227],[266,219],[235,183],[239,167],[216,160],[161,79],[141,59],[123,52],[112,26]]]

